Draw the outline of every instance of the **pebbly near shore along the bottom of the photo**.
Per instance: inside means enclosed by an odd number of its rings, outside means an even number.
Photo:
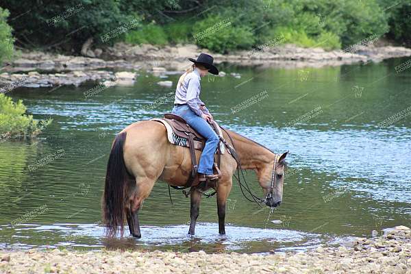
[[[411,229],[352,247],[271,254],[163,251],[0,251],[0,273],[411,273]]]

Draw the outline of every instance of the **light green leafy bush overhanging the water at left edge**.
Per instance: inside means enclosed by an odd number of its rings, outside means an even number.
[[[26,115],[23,101],[14,103],[10,97],[0,94],[0,134],[3,136],[36,136],[52,120],[36,121],[32,115]]]

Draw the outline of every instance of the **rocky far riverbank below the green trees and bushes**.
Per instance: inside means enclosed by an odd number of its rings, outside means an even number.
[[[95,49],[88,55],[69,56],[39,51],[23,52],[21,57],[1,68],[1,92],[14,88],[40,88],[73,85],[85,82],[103,83],[112,79],[114,71],[147,71],[166,78],[184,71],[200,52],[209,52],[196,45],[155,47],[153,45],[129,45],[123,42],[107,49]],[[388,58],[411,56],[411,49],[404,47],[364,47],[358,45],[344,50],[325,51],[321,48],[301,48],[295,45],[261,45],[252,51],[235,51],[222,55],[210,53],[216,64],[223,62],[241,66],[276,66],[281,68],[305,68],[340,66],[358,62],[380,62]],[[220,76],[225,75],[222,71]],[[235,75],[234,75],[235,76]],[[160,79],[159,79],[160,81]],[[134,78],[119,84],[132,85]]]

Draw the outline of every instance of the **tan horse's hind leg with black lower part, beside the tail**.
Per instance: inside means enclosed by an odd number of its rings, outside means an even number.
[[[132,188],[129,196],[129,205],[126,207],[127,223],[132,236],[141,238],[138,210],[142,202],[150,195],[155,180],[144,178],[136,179],[136,186]]]

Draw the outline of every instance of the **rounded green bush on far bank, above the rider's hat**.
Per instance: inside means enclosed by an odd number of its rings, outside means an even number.
[[[192,33],[199,37],[195,40],[196,44],[218,53],[227,53],[232,49],[249,49],[255,42],[251,29],[247,26],[236,26],[231,21],[222,23],[226,19],[221,16],[209,16],[195,23]],[[221,26],[212,29],[220,23]]]

